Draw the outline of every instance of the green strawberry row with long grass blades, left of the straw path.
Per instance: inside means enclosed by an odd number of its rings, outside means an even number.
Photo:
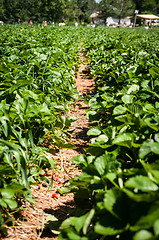
[[[21,209],[34,203],[31,184],[53,184],[50,155],[72,148],[66,117],[78,92],[75,71],[80,34],[71,28],[0,28],[0,232]],[[52,148],[47,148],[47,144]]]

